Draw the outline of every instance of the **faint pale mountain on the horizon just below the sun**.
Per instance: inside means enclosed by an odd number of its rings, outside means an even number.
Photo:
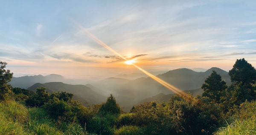
[[[154,71],[154,72],[149,72],[152,75],[160,75],[163,73],[166,73],[168,71]],[[115,76],[116,78],[124,78],[124,79],[128,79],[128,80],[134,80],[137,78],[147,78],[148,75],[146,75],[145,73],[131,73],[131,74],[120,74]]]

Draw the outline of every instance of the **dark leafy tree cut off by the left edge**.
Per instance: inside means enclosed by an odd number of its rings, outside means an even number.
[[[7,63],[0,61],[0,100],[4,100],[5,96],[11,93],[11,86],[7,85],[12,79],[13,73],[5,70]]]

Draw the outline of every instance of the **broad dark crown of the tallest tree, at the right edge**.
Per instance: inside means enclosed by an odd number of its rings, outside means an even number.
[[[248,63],[246,60],[237,59],[236,63],[228,73],[230,75],[231,81],[235,83],[249,84],[255,83],[256,81],[256,70]]]

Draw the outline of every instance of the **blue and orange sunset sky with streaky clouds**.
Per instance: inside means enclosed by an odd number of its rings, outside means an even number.
[[[147,71],[256,66],[255,0],[0,0],[0,60],[15,77],[105,78]]]

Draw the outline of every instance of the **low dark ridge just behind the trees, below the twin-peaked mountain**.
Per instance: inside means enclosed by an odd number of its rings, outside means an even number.
[[[189,93],[190,92],[191,94],[193,94],[195,96],[195,95],[202,94],[204,91],[203,91],[203,89],[199,88],[199,89],[194,89],[194,90],[185,90],[183,92],[185,92],[185,93]],[[160,94],[157,94],[157,95],[155,95],[153,97],[146,98],[146,99],[140,101],[140,103],[151,102],[151,101],[159,101],[159,102],[165,101],[165,102],[168,102],[169,99],[172,96],[175,96],[175,95],[176,94],[168,94],[168,95],[166,95],[166,94],[160,93]]]

